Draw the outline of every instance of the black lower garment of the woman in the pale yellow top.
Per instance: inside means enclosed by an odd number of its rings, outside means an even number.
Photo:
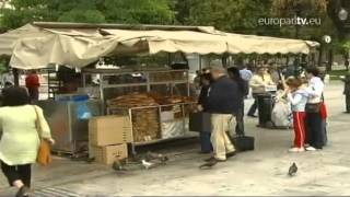
[[[21,179],[25,186],[31,187],[31,178],[32,178],[31,164],[8,165],[2,161],[0,163],[1,163],[2,173],[8,178],[10,186],[13,186],[14,181]]]

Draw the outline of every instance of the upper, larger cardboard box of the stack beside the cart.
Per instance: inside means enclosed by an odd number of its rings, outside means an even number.
[[[128,116],[101,116],[89,121],[89,143],[96,147],[128,143],[131,138]]]

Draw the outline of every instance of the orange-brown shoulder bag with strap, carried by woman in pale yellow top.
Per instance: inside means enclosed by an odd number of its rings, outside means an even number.
[[[46,166],[52,162],[51,146],[46,139],[43,138],[43,129],[42,129],[39,114],[35,106],[34,106],[34,109],[36,114],[35,127],[40,140],[40,144],[37,151],[36,162],[43,166]]]

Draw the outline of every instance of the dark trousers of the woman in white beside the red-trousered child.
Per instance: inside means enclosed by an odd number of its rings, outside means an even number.
[[[322,149],[325,144],[325,129],[320,113],[306,113],[306,142]]]

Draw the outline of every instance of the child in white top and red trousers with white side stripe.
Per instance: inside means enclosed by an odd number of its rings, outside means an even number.
[[[294,147],[290,152],[303,152],[306,131],[305,131],[305,105],[307,103],[307,92],[302,88],[303,81],[298,78],[289,78],[287,80],[288,100],[292,105],[293,126],[294,126]]]

